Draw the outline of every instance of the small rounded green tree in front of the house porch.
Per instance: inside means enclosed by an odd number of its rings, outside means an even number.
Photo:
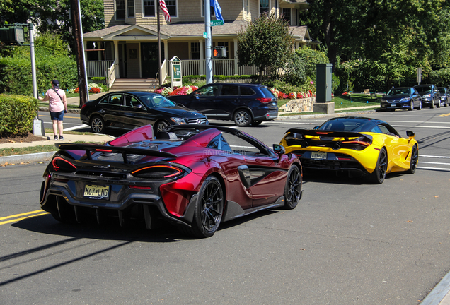
[[[292,56],[292,35],[282,17],[262,14],[238,32],[239,66],[258,67],[258,82],[267,67],[274,70],[286,65]]]

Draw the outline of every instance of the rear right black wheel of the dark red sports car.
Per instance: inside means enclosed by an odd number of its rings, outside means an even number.
[[[197,195],[192,227],[183,227],[182,232],[193,237],[212,237],[224,214],[224,203],[224,191],[219,179],[207,177]]]

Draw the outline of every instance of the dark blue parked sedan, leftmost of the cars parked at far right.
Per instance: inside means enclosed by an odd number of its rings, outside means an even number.
[[[383,95],[380,100],[381,110],[388,109],[422,109],[422,99],[419,92],[412,87],[394,87]]]

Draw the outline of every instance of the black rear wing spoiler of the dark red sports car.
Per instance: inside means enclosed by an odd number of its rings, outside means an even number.
[[[146,150],[141,148],[126,148],[126,147],[116,147],[116,146],[105,146],[105,145],[95,145],[95,144],[68,144],[68,143],[55,143],[54,144],[59,150],[84,150],[88,157],[88,160],[92,160],[93,152],[110,152],[110,153],[120,153],[122,154],[125,163],[128,163],[127,155],[146,155],[151,157],[166,157],[170,159],[176,159],[177,155],[173,155],[170,152],[163,152],[161,150]]]

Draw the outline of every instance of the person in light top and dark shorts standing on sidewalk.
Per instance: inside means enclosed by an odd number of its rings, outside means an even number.
[[[67,100],[64,90],[59,89],[59,81],[52,80],[52,89],[47,90],[45,97],[39,97],[39,100],[49,101],[48,109],[50,117],[53,121],[54,140],[64,140],[62,136],[62,121],[64,121],[64,113],[67,113]]]

